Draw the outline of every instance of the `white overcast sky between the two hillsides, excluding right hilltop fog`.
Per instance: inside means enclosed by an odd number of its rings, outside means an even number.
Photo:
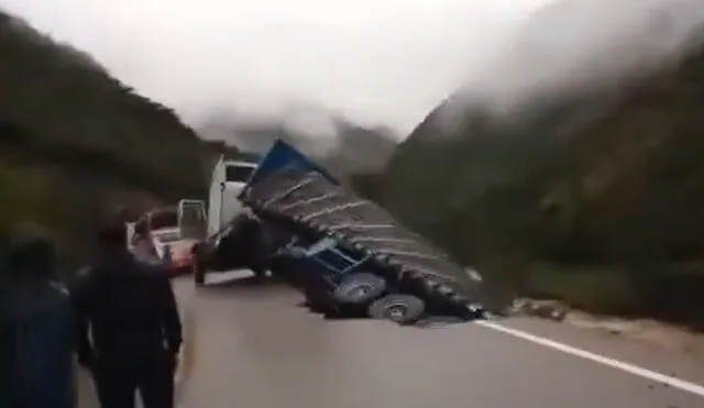
[[[617,1],[617,0],[614,0]],[[197,124],[304,100],[410,131],[550,0],[0,0]]]

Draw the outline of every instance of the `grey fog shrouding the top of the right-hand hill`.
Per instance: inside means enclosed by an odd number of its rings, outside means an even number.
[[[538,95],[618,89],[685,55],[703,22],[702,0],[553,2],[468,77],[449,122],[470,102],[503,113],[529,108]]]

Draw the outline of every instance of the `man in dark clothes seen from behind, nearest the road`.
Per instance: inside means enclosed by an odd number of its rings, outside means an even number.
[[[125,227],[103,227],[100,255],[75,289],[78,361],[91,370],[102,408],[174,406],[182,323],[165,271],[127,250]],[[92,342],[88,338],[90,326]]]

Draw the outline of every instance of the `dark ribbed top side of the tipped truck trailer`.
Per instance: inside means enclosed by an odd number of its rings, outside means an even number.
[[[288,220],[330,235],[400,274],[470,289],[450,257],[404,228],[386,210],[315,169],[287,168],[250,184],[240,197],[260,217]],[[462,290],[464,291],[464,290]]]

